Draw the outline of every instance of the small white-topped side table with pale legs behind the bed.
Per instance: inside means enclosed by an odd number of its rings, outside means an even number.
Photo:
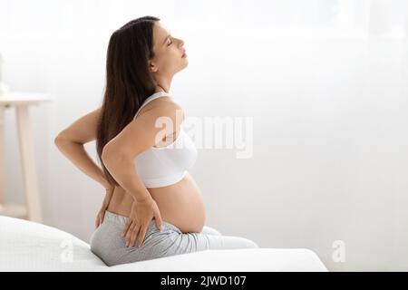
[[[0,95],[0,215],[42,222],[34,161],[34,143],[28,108],[53,101],[53,96],[34,92],[7,92]],[[15,107],[20,154],[22,160],[25,204],[5,201],[5,109]]]

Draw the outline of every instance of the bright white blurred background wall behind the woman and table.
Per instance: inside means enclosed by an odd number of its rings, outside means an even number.
[[[260,247],[306,247],[337,270],[408,270],[405,1],[0,0],[0,53],[31,110],[44,223],[88,241],[102,187],[53,145],[102,102],[112,32],[145,14],[185,41],[171,92],[188,116],[253,118],[253,156],[199,149],[208,224]],[[23,201],[14,111],[7,198]],[[86,145],[95,157],[95,143]],[[345,243],[345,262],[332,258]]]

